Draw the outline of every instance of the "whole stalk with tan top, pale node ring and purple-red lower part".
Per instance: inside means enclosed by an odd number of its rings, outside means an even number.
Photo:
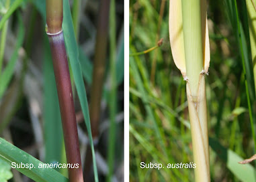
[[[52,62],[58,92],[58,102],[60,104],[67,163],[79,165],[78,168],[69,168],[69,180],[82,182],[83,170],[79,151],[75,106],[73,102],[65,41],[62,32],[62,8],[62,0],[46,1],[46,33],[52,52]]]

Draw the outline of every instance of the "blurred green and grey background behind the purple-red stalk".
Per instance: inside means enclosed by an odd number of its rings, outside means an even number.
[[[83,74],[83,80],[79,84],[85,85],[87,95],[83,97],[88,98],[90,108],[93,61],[97,54],[95,52],[97,21],[101,1],[65,0],[65,2],[65,8],[68,9],[67,2],[70,3],[73,22],[67,21],[65,17],[67,9],[64,8],[64,24],[70,29],[73,29],[73,25],[75,26],[77,38],[77,45],[66,45],[66,47],[69,49],[71,46],[78,46],[79,68]],[[103,68],[102,98],[98,105],[99,135],[93,141],[99,181],[107,181],[110,168],[113,171],[110,177],[114,180],[122,181],[124,176],[124,1],[114,2],[114,8],[111,10],[114,16],[110,19],[115,25],[114,31],[112,29],[112,35],[113,32],[114,35],[110,37],[110,30],[103,30],[107,32],[106,55],[103,60],[106,64]],[[44,0],[0,0],[0,137],[44,163],[66,163],[58,96],[50,46],[45,31],[45,3]],[[108,16],[105,16],[105,21],[109,21]],[[72,39],[72,37],[73,35],[68,35],[65,39]],[[110,42],[116,44],[112,50],[110,50]],[[110,58],[110,54],[114,55],[114,59]],[[114,63],[116,70],[111,68],[111,63]],[[89,170],[84,171],[84,174],[87,174],[88,181],[93,181],[91,161],[85,160],[86,154],[90,154],[88,150],[90,139],[81,105],[85,106],[86,103],[80,103],[81,98],[77,94],[72,72],[71,82],[82,165],[83,169],[89,166]],[[114,96],[110,96],[112,90],[115,90]],[[114,110],[111,108],[112,98],[116,101]],[[114,134],[110,134],[112,126],[114,129],[111,132]],[[109,150],[110,143],[114,143],[111,145],[111,150]],[[109,153],[114,156],[114,159],[109,159]],[[18,182],[32,181],[14,169],[10,172],[10,169],[10,165],[6,165],[0,157],[0,181],[2,179],[3,181],[7,179]],[[67,177],[67,169],[58,171]]]

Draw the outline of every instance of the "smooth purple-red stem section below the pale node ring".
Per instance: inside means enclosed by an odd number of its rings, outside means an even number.
[[[67,61],[64,37],[63,33],[60,32],[56,35],[48,34],[48,38],[52,52],[55,81],[58,91],[58,102],[60,104],[67,163],[79,165],[78,169],[69,168],[69,180],[72,182],[79,182],[83,181],[83,170],[81,165],[75,106],[73,102],[71,78],[69,74],[69,64]]]

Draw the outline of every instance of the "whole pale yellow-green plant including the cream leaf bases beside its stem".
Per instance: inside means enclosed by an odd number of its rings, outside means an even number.
[[[197,165],[195,178],[196,181],[210,181],[204,81],[210,63],[206,1],[170,1],[169,33],[173,59],[187,82],[193,154]]]

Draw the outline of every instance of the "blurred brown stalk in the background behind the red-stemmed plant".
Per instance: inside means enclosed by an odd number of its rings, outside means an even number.
[[[90,116],[93,139],[98,136],[99,132],[100,105],[105,76],[105,60],[108,41],[109,12],[110,0],[101,0],[99,5],[99,19],[97,23],[95,57],[93,62],[93,82],[91,86]]]

